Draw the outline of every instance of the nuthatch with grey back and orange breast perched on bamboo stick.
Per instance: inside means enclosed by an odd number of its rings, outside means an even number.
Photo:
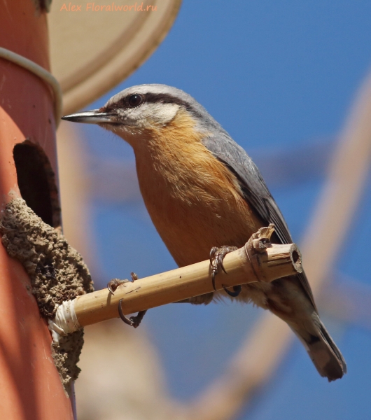
[[[206,260],[211,251],[211,257],[223,263],[226,253],[244,246],[269,223],[275,226],[272,241],[293,242],[258,167],[183,90],[160,84],[132,86],[100,109],[62,119],[97,124],[132,146],[148,214],[179,267]],[[345,360],[318,316],[304,272],[186,302],[208,304],[228,296],[269,309],[288,323],[328,381],[346,373]]]

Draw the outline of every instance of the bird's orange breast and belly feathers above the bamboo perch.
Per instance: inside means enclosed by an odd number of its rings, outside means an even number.
[[[212,246],[242,246],[262,226],[235,176],[201,143],[202,135],[180,111],[134,146],[148,213],[180,266],[206,260]]]

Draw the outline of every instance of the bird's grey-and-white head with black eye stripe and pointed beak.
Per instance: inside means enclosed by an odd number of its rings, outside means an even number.
[[[97,124],[132,146],[151,132],[161,132],[178,117],[188,119],[198,132],[210,132],[218,123],[193,97],[167,85],[128,87],[100,109],[62,117],[75,123]]]

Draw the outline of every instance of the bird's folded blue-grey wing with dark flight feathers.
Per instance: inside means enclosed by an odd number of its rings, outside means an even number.
[[[276,236],[282,244],[293,242],[288,226],[283,218],[279,207],[265,184],[258,167],[254,164],[241,146],[239,146],[226,132],[218,133],[217,137],[205,137],[202,140],[213,155],[235,174],[241,185],[244,200],[250,205],[261,219],[264,225],[274,223]],[[302,287],[307,292],[314,308],[313,293],[308,283],[307,276],[303,272],[297,277]]]

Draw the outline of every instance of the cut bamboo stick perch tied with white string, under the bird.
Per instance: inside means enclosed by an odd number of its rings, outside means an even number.
[[[223,289],[223,285],[230,288],[255,281],[269,282],[302,272],[297,246],[271,244],[269,239],[273,232],[274,225],[261,228],[245,246],[225,256],[224,267],[228,274],[219,270],[216,276],[217,290]],[[207,260],[134,282],[127,281],[118,286],[114,295],[107,288],[87,293],[69,301],[73,302],[72,309],[62,309],[62,305],[59,308],[64,311],[63,318],[71,318],[66,323],[74,324],[74,328],[68,331],[73,332],[86,325],[117,318],[121,299],[123,314],[127,315],[213,291],[211,265]],[[75,313],[70,314],[73,308]],[[57,325],[58,316],[57,313]]]

